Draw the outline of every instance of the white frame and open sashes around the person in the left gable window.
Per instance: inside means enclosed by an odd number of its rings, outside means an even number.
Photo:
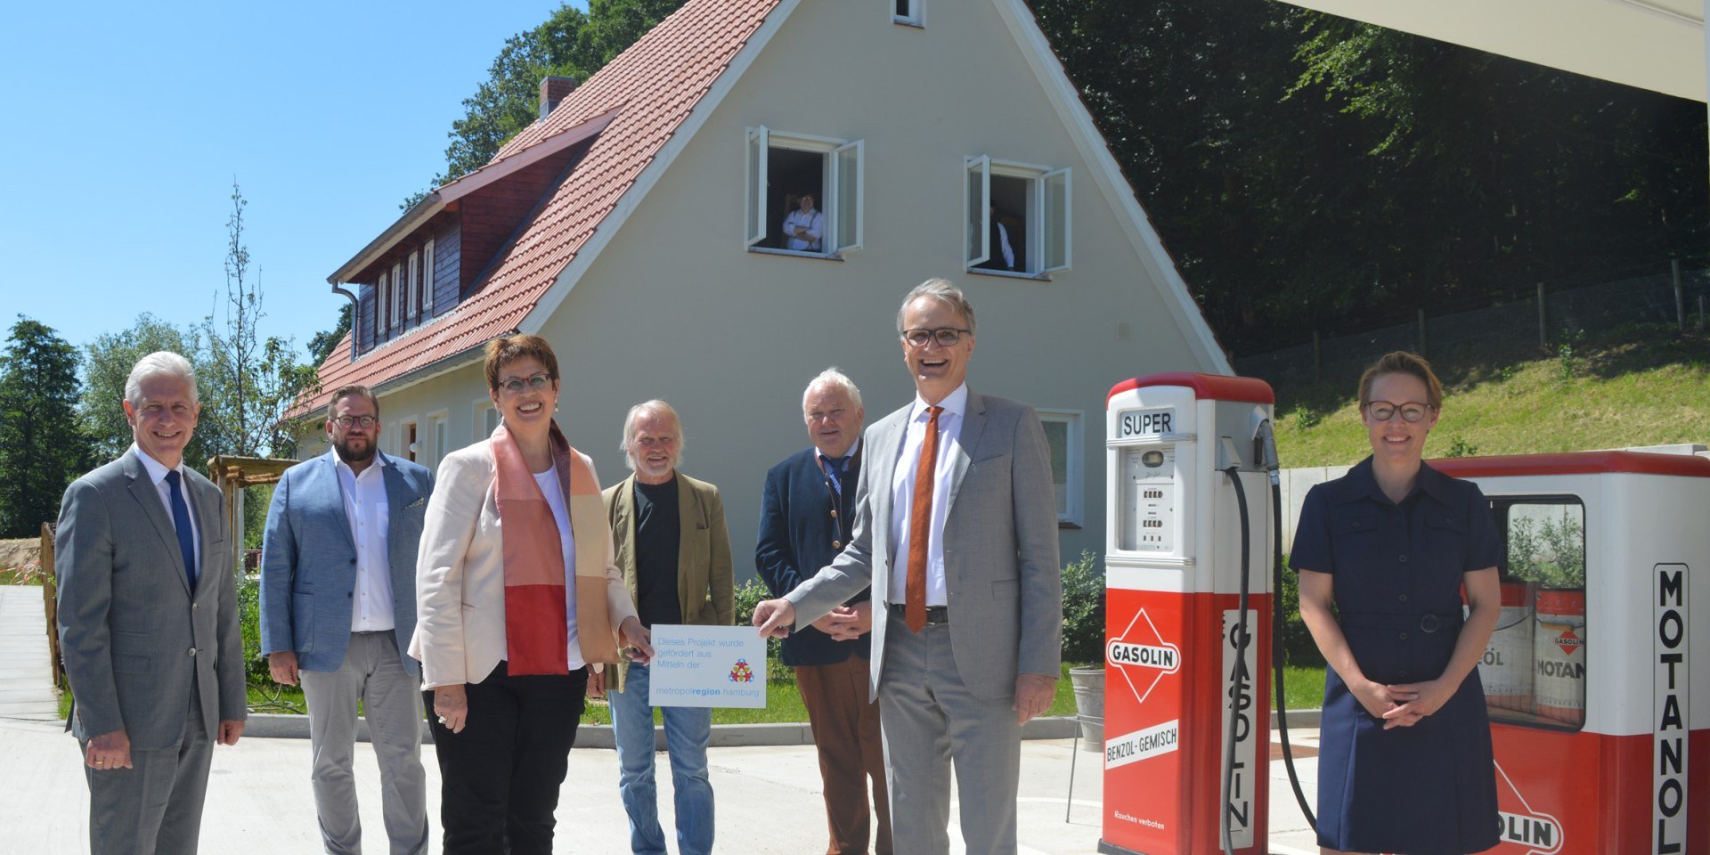
[[[826,234],[821,251],[756,246],[771,236],[766,219],[766,188],[770,186],[768,161],[771,149],[788,149],[821,156],[819,212],[824,215]],[[846,181],[846,171],[855,178]],[[746,128],[744,150],[744,246],[751,253],[793,255],[800,258],[841,260],[846,253],[865,246],[864,221],[867,207],[867,145],[865,140],[843,140],[812,133],[776,132],[766,125]],[[845,190],[845,185],[850,185]],[[850,203],[853,195],[853,203]],[[848,221],[848,222],[845,222]]]

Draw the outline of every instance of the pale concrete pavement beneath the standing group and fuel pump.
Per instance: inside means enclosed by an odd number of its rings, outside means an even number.
[[[1317,734],[1296,732],[1312,747]],[[1070,855],[1098,850],[1101,811],[1100,754],[1082,744],[1074,770],[1074,804],[1064,821],[1070,771],[1069,739],[1035,739],[1021,746],[1021,855]],[[429,816],[438,852],[439,770],[433,749],[422,761],[429,780]],[[658,758],[662,823],[670,826],[670,768]],[[716,852],[824,852],[824,802],[819,764],[811,746],[713,747],[716,792]],[[1317,780],[1313,758],[1298,761],[1308,797]],[[303,739],[243,739],[214,752],[203,814],[202,852],[224,855],[310,855],[320,852],[310,797],[310,744]],[[1317,853],[1305,819],[1272,764],[1271,852]],[[368,834],[368,852],[385,852],[380,819],[380,780],[373,749],[357,746],[356,780]],[[89,793],[75,742],[55,722],[0,718],[0,853],[74,855],[87,852]],[[954,804],[954,800],[951,802]],[[628,824],[617,800],[617,758],[609,749],[578,747],[569,758],[557,809],[559,852],[628,852]],[[961,853],[952,812],[951,852]]]

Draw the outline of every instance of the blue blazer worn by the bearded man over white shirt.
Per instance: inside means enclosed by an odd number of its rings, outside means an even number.
[[[286,470],[267,508],[262,540],[262,653],[294,652],[303,670],[339,670],[351,646],[356,544],[344,513],[337,451]],[[380,463],[380,451],[374,453]],[[428,467],[385,457],[386,564],[392,571],[393,634],[404,670],[416,634],[416,551],[433,494]]]

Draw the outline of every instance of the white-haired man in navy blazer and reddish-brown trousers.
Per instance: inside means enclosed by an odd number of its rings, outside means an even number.
[[[812,445],[771,467],[761,492],[754,568],[773,597],[795,590],[850,542],[865,419],[860,388],[836,368],[823,371],[802,393]],[[867,696],[870,629],[872,600],[864,590],[783,640],[781,658],[795,667],[795,687],[819,752],[828,855],[864,855],[869,841],[874,853],[891,855],[879,705]],[[870,823],[874,811],[877,829]]]

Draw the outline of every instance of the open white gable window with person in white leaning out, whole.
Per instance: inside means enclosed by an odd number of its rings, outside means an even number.
[[[747,246],[817,256],[860,250],[862,169],[862,140],[747,128]]]

